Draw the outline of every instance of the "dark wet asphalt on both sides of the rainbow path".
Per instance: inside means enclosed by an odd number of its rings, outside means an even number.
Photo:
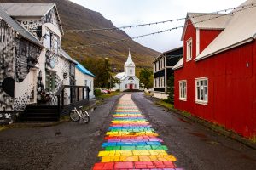
[[[90,169],[99,162],[119,96],[106,99],[90,115],[90,123],[67,122],[55,127],[9,129],[0,132],[0,169]],[[143,96],[132,99],[156,133],[164,139],[177,167],[187,170],[256,169],[256,150],[213,133]]]

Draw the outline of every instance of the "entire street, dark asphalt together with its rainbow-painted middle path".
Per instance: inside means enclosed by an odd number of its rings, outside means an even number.
[[[256,150],[166,112],[143,94],[131,95],[137,106],[133,105],[129,94],[121,100],[119,97],[106,99],[99,105],[91,113],[89,124],[67,122],[55,127],[0,132],[0,169],[82,170],[96,165],[99,169],[102,163],[122,167],[125,161],[130,162],[126,168],[135,167],[136,162],[138,167],[158,168],[156,161],[169,161],[166,168],[174,162],[173,166],[183,169],[255,169]],[[124,115],[125,111],[130,114]],[[133,111],[136,114],[131,114]],[[134,120],[140,122],[139,126],[132,122]],[[125,123],[134,124],[126,127]],[[132,138],[125,138],[131,127]],[[136,133],[145,138],[135,137]],[[119,138],[119,134],[124,134],[121,135],[124,138]],[[155,152],[154,145],[161,146],[160,151]],[[121,152],[122,148],[126,151]],[[143,152],[137,151],[139,148]]]

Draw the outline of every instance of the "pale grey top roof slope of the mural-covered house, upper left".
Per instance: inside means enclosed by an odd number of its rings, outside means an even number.
[[[55,6],[55,3],[1,3],[5,11],[13,17],[38,16],[42,17]]]

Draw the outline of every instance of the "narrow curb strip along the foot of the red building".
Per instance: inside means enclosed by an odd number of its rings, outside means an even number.
[[[160,105],[160,104],[158,104],[155,101],[154,101],[154,104],[155,105]],[[226,130],[226,129],[222,129],[221,127],[220,128],[216,128],[216,125],[214,125],[212,122],[207,122],[206,120],[201,119],[200,117],[196,117],[196,116],[192,116],[192,115],[190,115],[190,116],[184,115],[183,111],[179,111],[179,110],[174,109],[174,108],[168,108],[165,105],[160,105],[160,106],[166,108],[168,111],[172,111],[173,113],[177,114],[178,116],[183,116],[183,117],[185,117],[185,118],[187,118],[187,119],[189,119],[189,120],[191,120],[193,122],[196,122],[198,124],[201,124],[204,127],[207,127],[209,129],[211,129],[213,132],[222,134],[225,137],[229,137],[230,139],[234,139],[237,142],[240,142],[241,144],[245,144],[247,147],[249,147],[249,148],[251,148],[253,150],[256,150],[256,144],[255,143],[249,141],[248,139],[240,136],[237,133],[234,133],[234,132]]]

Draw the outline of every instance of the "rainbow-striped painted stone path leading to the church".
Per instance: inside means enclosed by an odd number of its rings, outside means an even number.
[[[102,144],[105,150],[98,154],[102,162],[96,163],[93,170],[182,170],[158,136],[131,100],[131,94],[125,94],[113,114],[107,142]]]

